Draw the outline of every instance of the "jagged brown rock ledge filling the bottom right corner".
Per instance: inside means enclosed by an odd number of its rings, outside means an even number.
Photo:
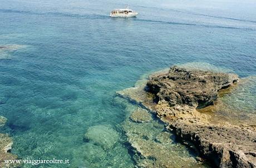
[[[255,132],[227,126],[186,124],[169,126],[181,139],[191,141],[218,167],[255,167]]]

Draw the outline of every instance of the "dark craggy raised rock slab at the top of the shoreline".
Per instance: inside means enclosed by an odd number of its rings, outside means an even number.
[[[238,76],[209,71],[187,71],[185,68],[171,67],[164,75],[151,76],[147,86],[159,101],[170,106],[208,106],[216,100],[218,91],[238,81]]]

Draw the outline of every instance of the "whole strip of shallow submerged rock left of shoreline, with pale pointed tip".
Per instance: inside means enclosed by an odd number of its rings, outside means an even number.
[[[174,134],[165,129],[163,122],[152,116],[149,110],[154,109],[156,105],[152,102],[154,95],[144,90],[145,85],[146,80],[143,80],[133,88],[117,92],[124,98],[121,104],[130,113],[122,123],[122,128],[129,142],[127,147],[134,154],[132,157],[136,167],[209,167],[204,162],[196,160],[198,155],[192,152],[194,150],[174,142]],[[140,111],[149,120],[142,121],[145,118]]]

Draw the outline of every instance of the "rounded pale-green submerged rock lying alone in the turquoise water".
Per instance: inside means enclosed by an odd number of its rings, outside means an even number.
[[[87,130],[85,140],[107,150],[119,140],[119,134],[110,125],[96,125]]]

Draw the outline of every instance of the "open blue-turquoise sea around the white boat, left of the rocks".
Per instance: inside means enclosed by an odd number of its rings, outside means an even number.
[[[125,4],[139,17],[108,16]],[[127,111],[115,91],[176,63],[255,75],[255,8],[249,0],[0,0],[0,115],[8,118],[12,152],[67,158],[70,167],[133,167],[120,127]],[[84,141],[95,125],[120,134],[114,149]]]

